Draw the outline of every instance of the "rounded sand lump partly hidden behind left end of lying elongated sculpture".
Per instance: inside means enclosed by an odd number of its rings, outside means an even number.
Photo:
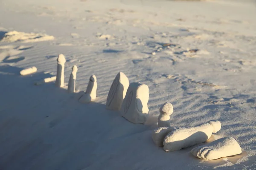
[[[163,146],[164,138],[176,127],[158,127],[152,133],[152,139],[157,146]]]

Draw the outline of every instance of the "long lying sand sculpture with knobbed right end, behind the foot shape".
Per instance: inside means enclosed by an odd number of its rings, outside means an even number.
[[[220,129],[221,122],[219,121],[209,121],[192,127],[178,127],[165,137],[163,150],[170,152],[206,142],[212,133],[216,133]]]

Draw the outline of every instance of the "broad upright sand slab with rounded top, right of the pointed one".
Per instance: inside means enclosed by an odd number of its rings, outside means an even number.
[[[148,86],[133,82],[129,85],[121,106],[121,115],[135,124],[144,124],[148,116]]]

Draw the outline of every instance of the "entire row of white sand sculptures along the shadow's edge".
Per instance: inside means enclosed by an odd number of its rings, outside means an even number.
[[[36,82],[35,85],[55,81],[57,87],[64,87],[64,66],[66,59],[63,54],[58,55],[57,62],[57,75]],[[37,69],[32,67],[20,71],[20,74],[27,75],[36,71]],[[67,88],[70,93],[75,93],[77,71],[78,68],[74,65]],[[76,94],[75,98],[81,103],[93,102],[96,99],[96,91],[97,79],[95,75],[92,75],[86,91],[80,91]],[[148,99],[149,89],[147,85],[140,82],[129,84],[126,75],[119,72],[109,90],[106,108],[119,111],[125,119],[134,124],[144,124],[149,111]],[[170,125],[170,115],[173,113],[173,106],[169,102],[164,103],[159,111],[158,128],[153,131],[152,139],[157,146],[163,147],[163,150],[166,152],[204,143],[212,136],[212,133],[217,133],[221,130],[221,122],[217,120],[212,120],[198,126],[172,127]],[[194,147],[190,153],[200,159],[213,160],[237,155],[241,152],[238,142],[233,137],[228,136],[208,144]]]

